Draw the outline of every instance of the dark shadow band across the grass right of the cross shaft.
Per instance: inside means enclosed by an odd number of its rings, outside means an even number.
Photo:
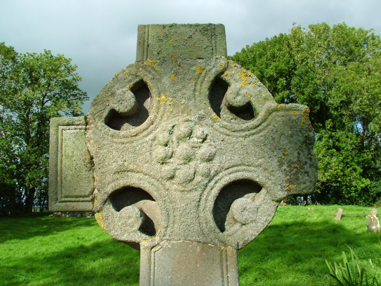
[[[379,243],[379,235],[368,233],[366,223],[362,233],[356,233],[334,222],[283,223],[269,225],[239,253],[240,257],[248,257],[268,256],[269,252],[276,252],[281,256],[295,257],[290,260],[292,262],[331,251],[339,251],[338,254],[341,255],[342,251],[348,251],[347,246],[362,247],[364,243]]]

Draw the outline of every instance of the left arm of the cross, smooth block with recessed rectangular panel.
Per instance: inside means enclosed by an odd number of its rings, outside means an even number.
[[[93,164],[85,142],[85,129],[83,117],[51,119],[50,211],[91,211],[93,208]]]

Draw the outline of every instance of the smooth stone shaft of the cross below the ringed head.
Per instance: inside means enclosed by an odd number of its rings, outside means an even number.
[[[196,241],[141,244],[141,285],[237,286],[237,251]]]

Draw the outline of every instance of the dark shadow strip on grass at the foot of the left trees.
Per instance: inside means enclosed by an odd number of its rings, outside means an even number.
[[[0,217],[0,243],[10,239],[47,236],[75,227],[90,227],[98,223],[93,217],[49,217],[50,213],[34,213]]]

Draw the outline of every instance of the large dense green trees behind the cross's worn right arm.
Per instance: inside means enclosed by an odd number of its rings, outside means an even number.
[[[309,106],[319,161],[314,201],[381,201],[381,40],[373,30],[295,26],[232,59],[278,103]]]

